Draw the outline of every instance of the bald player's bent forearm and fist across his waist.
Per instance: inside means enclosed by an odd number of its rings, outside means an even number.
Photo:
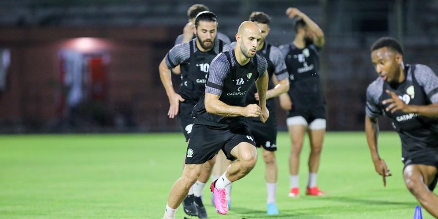
[[[258,117],[260,115],[260,107],[256,104],[250,104],[246,107],[230,106],[220,101],[219,97],[219,95],[205,92],[205,110],[208,113],[227,117]]]

